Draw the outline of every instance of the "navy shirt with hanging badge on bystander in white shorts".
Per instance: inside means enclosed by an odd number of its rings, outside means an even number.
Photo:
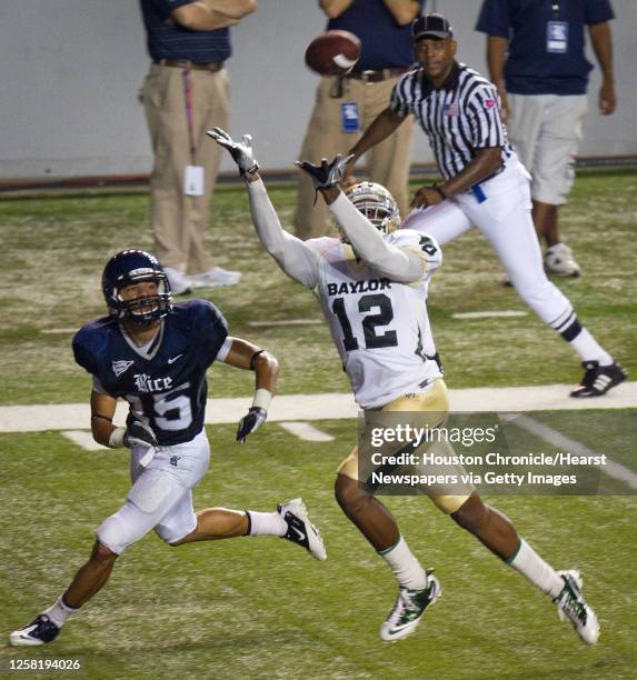
[[[485,0],[476,30],[509,40],[509,92],[584,94],[593,69],[584,52],[585,27],[613,18],[608,0]],[[550,22],[560,37],[566,31],[566,40],[549,51]]]

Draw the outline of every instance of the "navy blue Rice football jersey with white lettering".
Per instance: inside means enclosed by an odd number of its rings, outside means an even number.
[[[207,300],[175,306],[145,352],[103,317],[73,338],[76,361],[106,392],[130,403],[127,423],[148,422],[159,446],[190,441],[203,427],[206,370],[228,337],[226,319]]]

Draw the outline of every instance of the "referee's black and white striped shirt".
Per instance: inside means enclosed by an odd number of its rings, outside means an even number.
[[[416,116],[445,180],[461,172],[480,149],[500,147],[502,166],[512,153],[496,87],[464,63],[454,63],[437,90],[422,69],[406,73],[394,88],[390,106],[398,116]]]

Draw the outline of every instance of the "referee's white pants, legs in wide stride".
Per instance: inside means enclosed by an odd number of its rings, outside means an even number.
[[[527,171],[510,158],[505,170],[481,183],[480,189],[486,199],[482,202],[472,191],[465,191],[438,206],[411,211],[401,227],[428,233],[444,246],[476,226],[491,243],[522,300],[545,323],[561,330],[573,307],[544,271]]]

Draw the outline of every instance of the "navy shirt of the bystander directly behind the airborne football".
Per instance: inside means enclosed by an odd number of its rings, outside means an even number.
[[[425,0],[418,0],[420,11]],[[414,63],[411,50],[411,23],[400,26],[382,0],[354,0],[336,19],[330,19],[327,30],[349,31],[361,42],[360,59],[354,67],[360,71],[381,71]]]

